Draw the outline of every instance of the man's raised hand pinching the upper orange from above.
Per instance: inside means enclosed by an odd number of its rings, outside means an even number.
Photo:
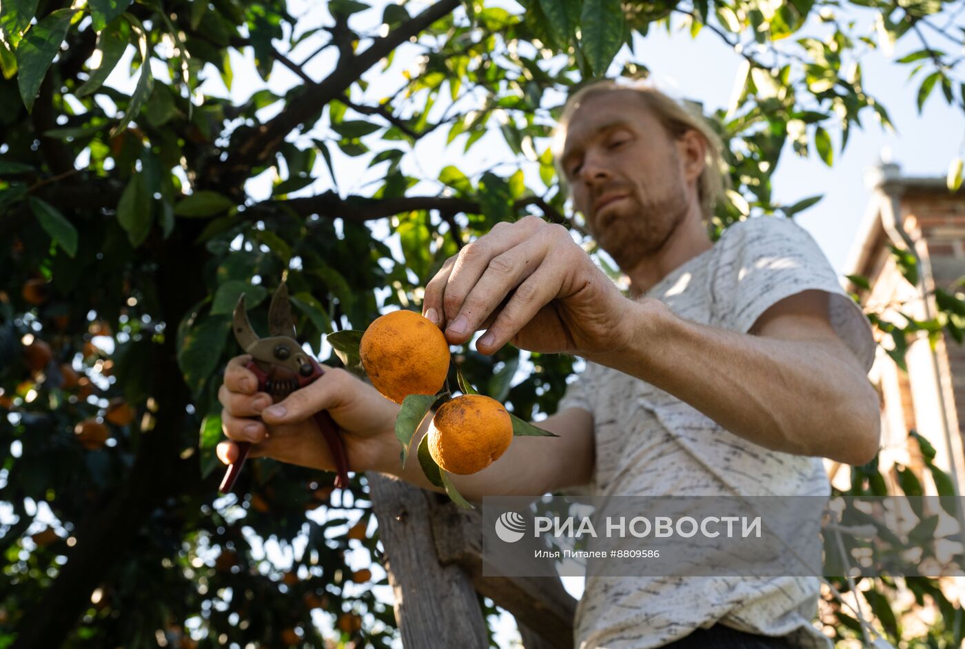
[[[526,216],[497,223],[446,260],[427,284],[423,313],[454,345],[488,328],[482,353],[511,342],[588,355],[629,343],[626,301],[565,227]]]

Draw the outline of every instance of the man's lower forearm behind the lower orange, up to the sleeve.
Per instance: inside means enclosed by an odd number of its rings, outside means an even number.
[[[399,442],[390,436],[381,460],[373,470],[399,477],[433,492],[444,490],[430,483],[415,457],[419,442],[428,431],[431,412],[412,437],[411,453],[401,466]],[[549,416],[536,425],[560,437],[513,437],[503,456],[478,473],[450,474],[455,488],[468,500],[480,502],[484,495],[533,495],[589,484],[593,476],[593,416],[571,408]]]

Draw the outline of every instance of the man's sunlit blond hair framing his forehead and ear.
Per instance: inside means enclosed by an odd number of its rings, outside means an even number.
[[[721,153],[723,150],[721,139],[699,109],[683,105],[664,95],[656,88],[640,82],[630,84],[620,83],[616,79],[600,79],[583,86],[566,99],[559,123],[553,130],[552,144],[553,164],[564,191],[568,194],[570,187],[569,183],[566,183],[566,175],[563,170],[563,147],[566,140],[566,129],[573,113],[580,107],[580,103],[586,99],[613,92],[631,92],[636,95],[673,137],[680,137],[688,130],[696,130],[701,134],[706,142],[706,155],[704,156],[703,172],[698,179],[697,190],[703,218],[709,220],[713,213],[714,203],[729,184]]]

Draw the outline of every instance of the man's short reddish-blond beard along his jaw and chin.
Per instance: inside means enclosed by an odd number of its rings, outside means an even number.
[[[623,205],[614,206],[603,217],[603,224],[597,216],[593,236],[620,268],[633,268],[670,240],[687,210],[687,191],[682,184],[653,199],[630,194]]]

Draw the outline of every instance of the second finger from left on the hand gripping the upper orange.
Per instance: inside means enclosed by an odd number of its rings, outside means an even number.
[[[465,330],[460,333],[452,328],[449,329],[446,332],[449,341],[459,345],[479,331],[489,316],[499,307],[500,302],[505,300],[516,286],[532,275],[537,268],[543,268],[551,263],[546,259],[548,249],[547,240],[530,237],[494,257],[485,268],[483,276],[466,296],[462,309],[455,319],[455,323],[459,323],[461,319],[466,324]]]

